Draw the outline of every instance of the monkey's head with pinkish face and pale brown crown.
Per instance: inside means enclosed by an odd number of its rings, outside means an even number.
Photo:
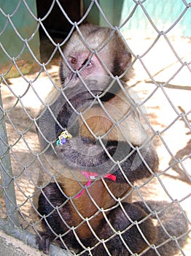
[[[90,75],[132,76],[131,54],[116,31],[97,26],[80,26],[63,49],[60,77],[63,86],[76,86]]]

